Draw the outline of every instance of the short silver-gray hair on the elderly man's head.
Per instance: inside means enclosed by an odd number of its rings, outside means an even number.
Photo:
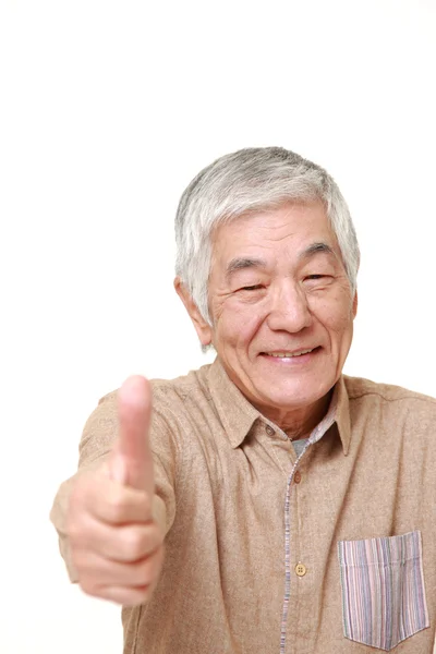
[[[358,239],[347,203],[324,168],[282,147],[256,147],[220,157],[192,180],[175,215],[175,274],[209,324],[214,230],[251,211],[277,208],[288,201],[316,199],[326,207],[354,294]]]

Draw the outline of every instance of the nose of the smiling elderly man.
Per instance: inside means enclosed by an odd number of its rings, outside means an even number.
[[[302,288],[291,281],[283,282],[271,294],[271,305],[267,318],[274,331],[296,334],[310,327],[313,316]]]

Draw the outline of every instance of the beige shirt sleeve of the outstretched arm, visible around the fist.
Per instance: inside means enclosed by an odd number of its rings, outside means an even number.
[[[153,512],[156,522],[167,534],[175,516],[175,484],[180,446],[174,425],[170,426],[165,417],[165,412],[155,404],[159,403],[155,402],[154,398],[149,433],[155,473]],[[78,578],[71,559],[66,534],[66,514],[71,491],[81,474],[101,465],[112,450],[118,434],[117,391],[114,391],[101,398],[86,421],[78,446],[77,472],[60,485],[50,511],[50,520],[59,536],[59,549],[65,561],[70,581],[73,583],[77,582]]]

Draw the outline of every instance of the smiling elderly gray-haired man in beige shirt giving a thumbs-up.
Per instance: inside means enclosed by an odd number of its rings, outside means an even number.
[[[175,234],[217,358],[100,400],[51,512],[71,579],[123,605],[128,654],[429,654],[436,401],[341,374],[359,247],[337,184],[243,149],[191,182]]]

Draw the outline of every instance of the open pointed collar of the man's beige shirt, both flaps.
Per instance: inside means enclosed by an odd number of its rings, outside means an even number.
[[[208,387],[230,445],[232,448],[237,448],[244,440],[253,423],[258,419],[265,419],[229,379],[218,356],[208,370]],[[328,412],[312,432],[311,441],[319,440],[334,423],[338,427],[343,453],[348,455],[351,425],[349,398],[343,375],[335,385]]]

